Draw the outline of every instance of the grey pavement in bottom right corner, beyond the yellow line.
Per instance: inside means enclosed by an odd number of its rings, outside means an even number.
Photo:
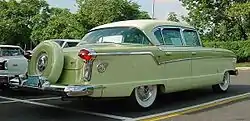
[[[250,121],[250,100],[184,114],[164,121]]]

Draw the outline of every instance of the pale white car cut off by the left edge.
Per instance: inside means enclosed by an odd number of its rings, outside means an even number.
[[[20,46],[0,45],[0,87],[7,86],[16,76],[27,72],[28,60]]]

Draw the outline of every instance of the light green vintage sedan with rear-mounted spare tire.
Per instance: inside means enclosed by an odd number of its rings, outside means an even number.
[[[76,47],[40,43],[19,87],[69,98],[129,97],[148,108],[160,93],[207,86],[226,92],[235,63],[233,52],[203,47],[192,26],[128,20],[91,29]]]

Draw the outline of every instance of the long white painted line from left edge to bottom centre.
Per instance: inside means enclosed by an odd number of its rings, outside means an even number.
[[[16,102],[21,102],[21,103],[26,103],[26,104],[33,104],[33,105],[38,105],[38,106],[43,106],[43,107],[57,108],[57,109],[65,110],[65,111],[85,113],[85,114],[107,117],[107,118],[112,118],[112,119],[119,119],[119,120],[131,120],[132,119],[129,117],[122,117],[122,116],[116,116],[116,115],[110,115],[110,114],[104,114],[104,113],[96,113],[96,112],[77,110],[77,109],[72,109],[72,108],[65,108],[65,107],[61,107],[61,106],[57,106],[57,105],[50,105],[50,104],[45,104],[45,103],[33,102],[30,100],[21,100],[21,99],[17,99],[17,98],[9,98],[9,97],[3,97],[3,96],[0,96],[0,98],[6,99],[6,100],[11,100],[11,101],[16,101]]]

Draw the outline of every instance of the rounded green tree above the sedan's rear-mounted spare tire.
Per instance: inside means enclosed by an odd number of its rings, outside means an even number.
[[[80,39],[86,33],[76,14],[68,9],[51,8],[49,17],[40,15],[37,21],[40,20],[45,21],[34,27],[31,35],[36,44],[48,39]]]

